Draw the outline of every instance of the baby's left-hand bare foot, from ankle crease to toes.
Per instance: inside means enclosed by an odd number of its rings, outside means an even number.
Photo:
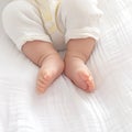
[[[57,53],[46,56],[40,68],[36,88],[44,92],[46,88],[62,74],[64,63]]]

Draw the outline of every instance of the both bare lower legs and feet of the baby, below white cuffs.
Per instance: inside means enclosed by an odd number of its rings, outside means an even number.
[[[94,50],[95,43],[92,38],[70,40],[63,62],[51,43],[42,41],[26,42],[22,47],[23,53],[40,66],[36,89],[44,92],[64,70],[65,75],[77,87],[85,91],[92,91],[95,84],[86,62]]]

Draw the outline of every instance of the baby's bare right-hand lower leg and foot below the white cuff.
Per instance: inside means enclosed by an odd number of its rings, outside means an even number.
[[[95,88],[92,76],[86,65],[94,46],[95,40],[90,37],[70,40],[65,56],[65,75],[86,91],[92,91]]]

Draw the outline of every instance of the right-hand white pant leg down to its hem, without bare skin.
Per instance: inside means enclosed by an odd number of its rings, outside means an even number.
[[[99,38],[98,24],[102,12],[96,0],[63,0],[62,20],[66,26],[65,40],[94,37]]]

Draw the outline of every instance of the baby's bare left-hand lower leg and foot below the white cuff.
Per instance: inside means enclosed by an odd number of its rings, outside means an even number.
[[[45,89],[62,74],[64,63],[53,45],[47,42],[33,41],[28,42],[22,47],[23,53],[37,66],[36,88],[44,92]]]

